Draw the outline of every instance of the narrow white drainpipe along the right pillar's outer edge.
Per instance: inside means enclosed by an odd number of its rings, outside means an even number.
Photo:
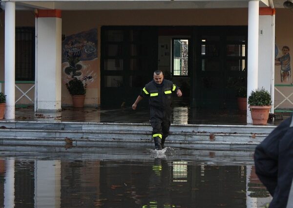
[[[270,5],[272,8],[272,58],[271,58],[271,97],[272,97],[272,107],[271,113],[274,113],[274,59],[275,59],[275,8],[272,0],[270,0]]]

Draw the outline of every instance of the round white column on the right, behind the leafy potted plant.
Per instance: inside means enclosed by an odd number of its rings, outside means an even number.
[[[259,1],[251,0],[248,3],[248,58],[247,58],[247,95],[257,88],[258,74],[258,14]],[[247,108],[248,124],[252,124],[251,112]]]

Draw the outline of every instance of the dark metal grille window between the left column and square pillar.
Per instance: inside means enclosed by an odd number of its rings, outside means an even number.
[[[35,28],[33,27],[16,28],[15,80],[35,80]]]

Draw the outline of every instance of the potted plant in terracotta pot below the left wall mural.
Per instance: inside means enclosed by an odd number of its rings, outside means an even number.
[[[84,84],[81,80],[74,78],[66,83],[66,88],[72,97],[73,106],[84,107],[86,84]]]

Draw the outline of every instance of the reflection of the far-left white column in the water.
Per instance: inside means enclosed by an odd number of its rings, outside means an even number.
[[[4,208],[14,208],[14,159],[5,160]]]

